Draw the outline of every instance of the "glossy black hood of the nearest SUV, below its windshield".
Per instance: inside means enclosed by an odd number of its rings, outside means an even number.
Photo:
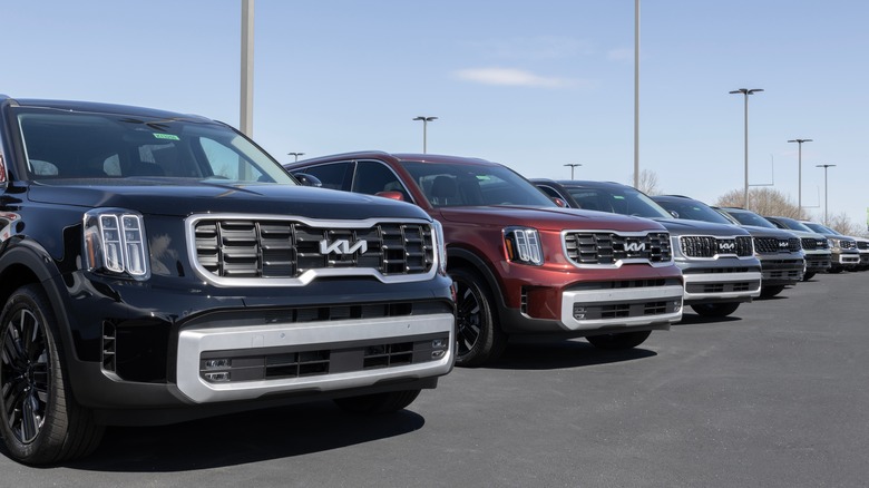
[[[84,208],[118,207],[144,215],[197,213],[303,215],[309,218],[426,218],[416,205],[378,196],[281,184],[221,184],[198,179],[95,180],[84,185],[31,185],[33,202]]]

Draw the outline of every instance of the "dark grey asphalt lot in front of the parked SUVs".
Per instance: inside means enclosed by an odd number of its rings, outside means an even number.
[[[114,428],[2,487],[857,487],[869,479],[869,273],[819,275],[641,348],[512,345],[409,410],[329,402]]]

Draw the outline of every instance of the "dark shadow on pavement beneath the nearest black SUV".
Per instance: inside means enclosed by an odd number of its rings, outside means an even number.
[[[173,472],[292,458],[419,430],[410,410],[383,416],[342,412],[320,401],[159,427],[113,427],[89,457],[89,471]]]

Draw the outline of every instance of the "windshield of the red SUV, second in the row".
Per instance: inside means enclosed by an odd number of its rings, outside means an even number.
[[[402,162],[434,207],[557,206],[534,184],[500,165]]]

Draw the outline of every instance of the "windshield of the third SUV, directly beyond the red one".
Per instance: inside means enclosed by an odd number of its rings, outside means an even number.
[[[567,192],[579,208],[646,218],[673,218],[661,205],[631,186],[567,187]]]

